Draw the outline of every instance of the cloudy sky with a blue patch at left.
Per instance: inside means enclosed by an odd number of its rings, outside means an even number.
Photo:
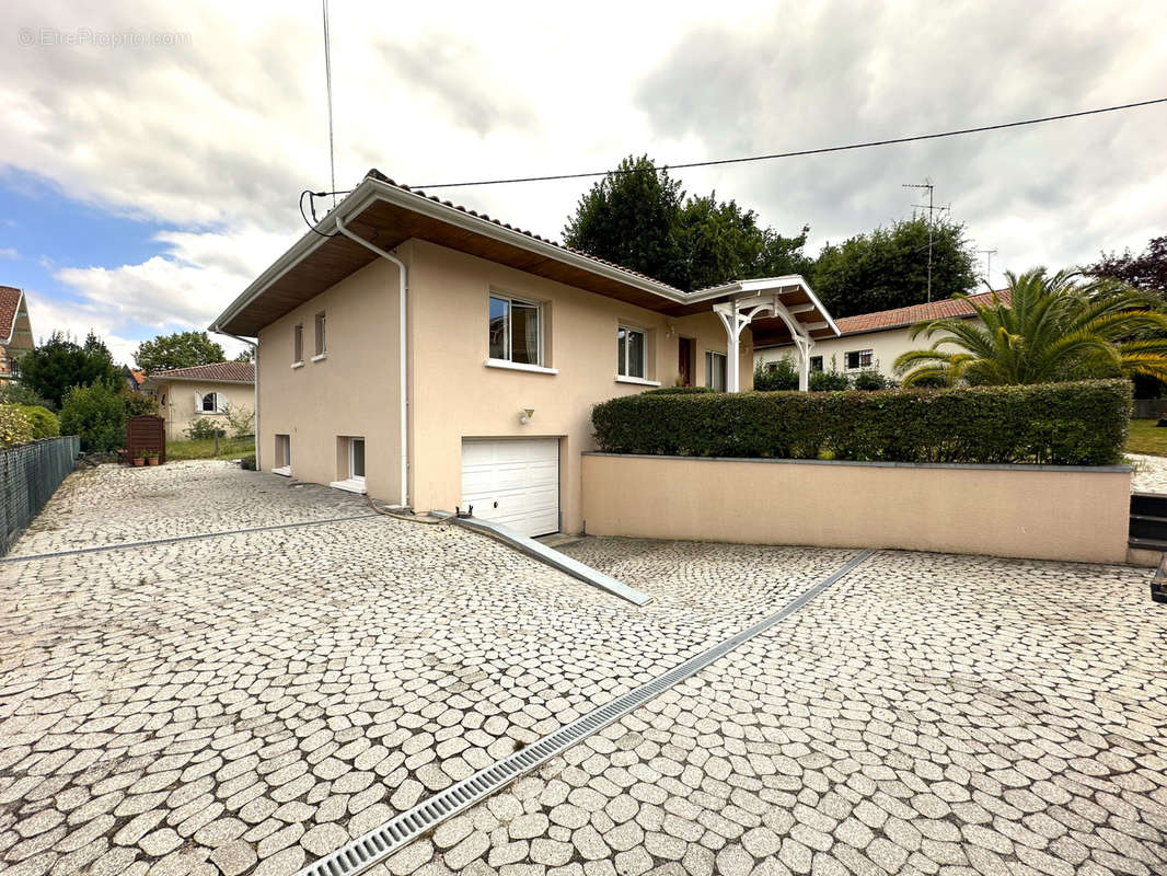
[[[328,188],[319,2],[0,8],[0,284],[36,334],[203,328]],[[336,179],[410,185],[682,162],[1167,97],[1152,2],[410,4],[333,0]],[[1004,269],[1167,234],[1167,105],[686,171],[812,252],[910,215],[904,182]],[[558,238],[586,181],[445,196]],[[237,346],[226,345],[233,350]]]

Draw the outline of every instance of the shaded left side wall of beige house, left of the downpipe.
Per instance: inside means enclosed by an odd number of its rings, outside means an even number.
[[[410,244],[399,253],[408,264]],[[314,360],[315,319],[326,317],[327,353]],[[303,326],[302,364],[293,336]],[[330,484],[347,475],[341,439],[365,439],[370,495],[400,492],[398,273],[377,258],[259,333],[259,464],[277,467],[277,436],[288,436],[292,474]]]

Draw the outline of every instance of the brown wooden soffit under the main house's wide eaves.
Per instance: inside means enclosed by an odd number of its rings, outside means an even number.
[[[384,250],[392,250],[405,241],[418,238],[650,311],[664,311],[671,304],[665,298],[630,284],[592,273],[386,201],[375,201],[358,216],[345,220],[344,224],[354,234]],[[347,237],[328,238],[223,327],[233,334],[254,336],[264,326],[271,325],[305,301],[315,298],[375,258],[377,256],[370,250]]]

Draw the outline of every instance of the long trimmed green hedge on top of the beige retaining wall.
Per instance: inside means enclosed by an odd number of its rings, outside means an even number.
[[[848,392],[643,392],[598,404],[600,450],[679,457],[1113,465],[1124,380]]]

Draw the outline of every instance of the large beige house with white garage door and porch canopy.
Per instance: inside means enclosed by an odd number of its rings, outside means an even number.
[[[376,171],[211,331],[258,339],[259,467],[527,535],[584,527],[595,403],[836,333],[801,277],[683,292]]]

